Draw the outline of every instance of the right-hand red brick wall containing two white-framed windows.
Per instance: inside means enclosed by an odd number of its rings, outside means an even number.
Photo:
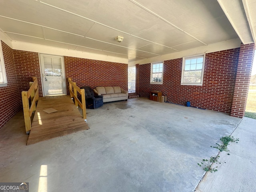
[[[150,90],[160,90],[175,104],[231,112],[240,48],[206,54],[202,86],[180,85],[182,58],[164,61],[162,85],[150,84],[150,64],[139,66],[139,94],[149,98]]]

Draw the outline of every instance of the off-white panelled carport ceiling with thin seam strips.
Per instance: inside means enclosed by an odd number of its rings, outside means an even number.
[[[256,0],[0,0],[0,30],[11,41],[134,62],[235,38],[255,42]]]

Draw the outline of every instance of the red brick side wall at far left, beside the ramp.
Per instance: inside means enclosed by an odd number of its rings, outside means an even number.
[[[21,109],[13,51],[2,42],[8,86],[0,87],[0,128]]]

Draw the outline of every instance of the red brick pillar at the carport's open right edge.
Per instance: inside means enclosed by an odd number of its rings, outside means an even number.
[[[230,116],[243,118],[248,97],[255,44],[241,44]]]

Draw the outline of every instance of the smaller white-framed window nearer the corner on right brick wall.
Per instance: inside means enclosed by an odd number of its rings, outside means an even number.
[[[163,66],[164,63],[162,61],[151,63],[151,84],[163,84]]]

